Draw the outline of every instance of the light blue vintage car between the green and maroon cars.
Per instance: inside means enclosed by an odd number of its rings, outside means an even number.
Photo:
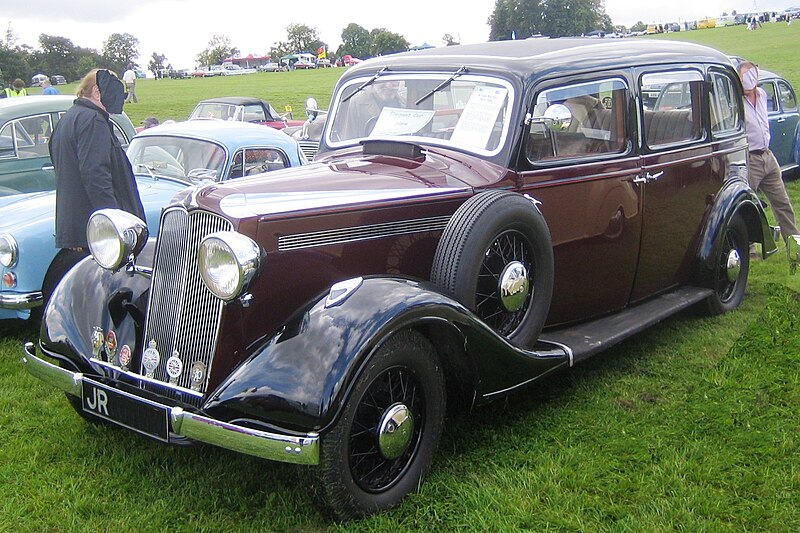
[[[242,122],[164,124],[138,134],[128,147],[148,229],[156,235],[161,207],[176,192],[306,162],[296,141],[272,128]],[[55,191],[18,194],[0,206],[0,319],[30,318],[59,281]],[[56,269],[53,268],[53,271]]]

